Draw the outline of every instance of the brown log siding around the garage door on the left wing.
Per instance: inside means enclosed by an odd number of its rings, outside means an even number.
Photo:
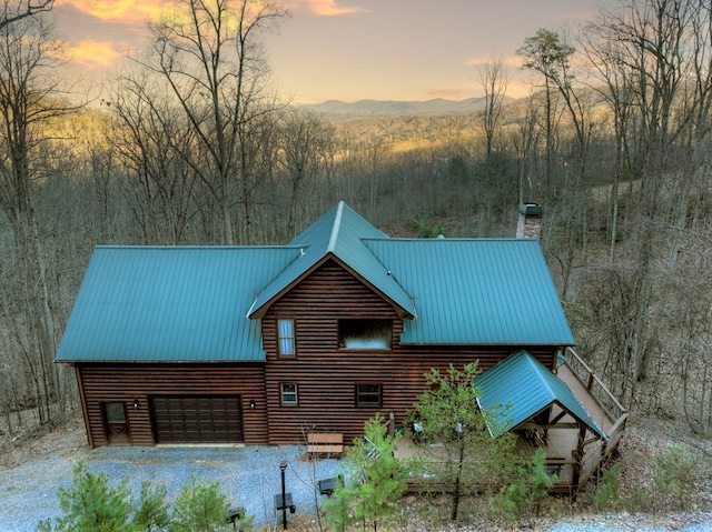
[[[103,402],[125,402],[131,444],[154,445],[149,397],[206,393],[240,395],[245,443],[268,440],[263,364],[78,364],[77,375],[91,446],[108,444]],[[138,409],[132,408],[136,399]]]

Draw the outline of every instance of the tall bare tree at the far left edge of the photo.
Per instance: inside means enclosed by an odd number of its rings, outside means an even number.
[[[6,3],[6,11],[7,11]],[[0,26],[0,208],[14,237],[20,275],[13,312],[21,347],[37,391],[41,422],[49,422],[59,380],[51,363],[57,331],[43,247],[34,211],[36,182],[44,177],[42,127],[76,110],[62,102],[65,91],[53,70],[61,64],[61,44],[37,17]]]

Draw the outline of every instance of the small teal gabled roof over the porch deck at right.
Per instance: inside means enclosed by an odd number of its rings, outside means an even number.
[[[477,401],[481,409],[507,406],[493,425],[495,438],[556,403],[592,432],[606,439],[566,383],[526,351],[511,354],[485,371],[475,379],[474,385],[479,389]]]

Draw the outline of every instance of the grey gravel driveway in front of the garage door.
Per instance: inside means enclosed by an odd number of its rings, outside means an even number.
[[[171,501],[194,474],[198,480],[217,481],[231,506],[245,506],[256,525],[271,524],[274,495],[281,490],[281,460],[288,462],[286,490],[293,493],[297,512],[314,511],[314,478],[340,472],[338,460],[322,460],[315,466],[299,460],[303,452],[304,446],[298,445],[58,451],[0,471],[0,532],[34,531],[40,520],[60,515],[57,489],[71,485],[72,468],[79,460],[92,473],[106,472],[111,485],[128,476],[135,494],[142,481],[165,483]]]

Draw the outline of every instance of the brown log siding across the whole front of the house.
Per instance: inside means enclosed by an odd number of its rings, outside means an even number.
[[[278,355],[280,318],[294,319],[295,357]],[[339,349],[342,319],[392,321],[392,349]],[[462,368],[478,360],[486,370],[520,349],[554,368],[557,349],[400,345],[403,321],[396,309],[336,260],[326,261],[275,301],[261,328],[265,364],[77,364],[89,444],[108,443],[102,402],[125,402],[131,443],[154,445],[150,395],[221,393],[241,398],[246,444],[301,444],[313,430],[342,432],[344,441],[350,442],[376,412],[387,416],[393,410],[396,423],[403,423],[425,391],[424,374],[432,368],[444,371],[451,363]],[[297,385],[297,404],[281,404],[283,383]],[[357,384],[380,384],[380,405],[357,405]],[[138,410],[130,408],[135,399],[140,402]]]

